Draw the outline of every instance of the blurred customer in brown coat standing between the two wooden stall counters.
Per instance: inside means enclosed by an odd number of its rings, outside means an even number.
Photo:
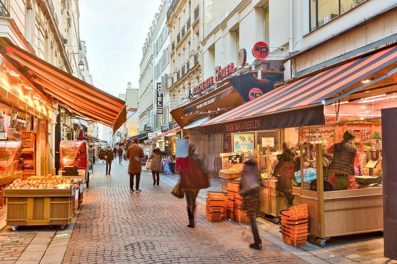
[[[278,179],[278,189],[287,199],[289,206],[293,205],[294,196],[292,195],[292,180],[296,182],[294,177],[295,164],[294,157],[296,152],[291,150],[293,144],[291,142],[283,142],[283,153],[278,157],[278,163],[274,167],[273,176]]]

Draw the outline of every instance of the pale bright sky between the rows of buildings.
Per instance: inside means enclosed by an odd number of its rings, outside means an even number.
[[[139,88],[142,47],[161,0],[79,0],[80,39],[85,41],[94,86],[114,96],[127,82]]]

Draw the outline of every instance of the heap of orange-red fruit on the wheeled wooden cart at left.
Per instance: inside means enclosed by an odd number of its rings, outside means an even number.
[[[47,176],[30,176],[26,180],[14,180],[6,189],[69,189],[73,187],[70,182],[70,178],[48,174]]]

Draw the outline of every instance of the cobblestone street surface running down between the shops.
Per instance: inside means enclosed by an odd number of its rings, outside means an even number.
[[[129,193],[127,162],[110,176],[101,163],[95,170],[62,263],[306,263],[266,239],[263,251],[249,248],[251,231],[209,222],[202,204],[197,228],[187,228],[185,200],[153,186],[151,174],[142,173],[141,193]]]

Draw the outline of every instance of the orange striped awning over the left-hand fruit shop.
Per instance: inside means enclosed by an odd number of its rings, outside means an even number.
[[[66,109],[91,121],[113,127],[114,133],[127,119],[125,101],[39,59],[12,44],[7,38],[0,38],[0,45],[5,48],[1,54],[2,59],[18,66],[21,75],[29,75],[31,81],[39,84],[44,93]]]

